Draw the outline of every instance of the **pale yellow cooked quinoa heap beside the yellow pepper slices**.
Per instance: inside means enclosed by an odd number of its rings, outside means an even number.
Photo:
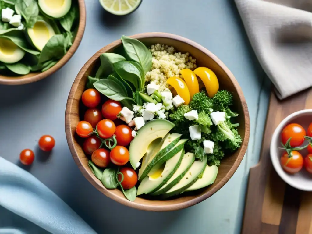
[[[166,80],[172,76],[179,76],[180,70],[196,68],[196,59],[189,53],[175,52],[172,46],[152,45],[149,49],[152,53],[152,70],[145,75],[146,82],[154,82],[160,85],[159,91],[168,88]]]

